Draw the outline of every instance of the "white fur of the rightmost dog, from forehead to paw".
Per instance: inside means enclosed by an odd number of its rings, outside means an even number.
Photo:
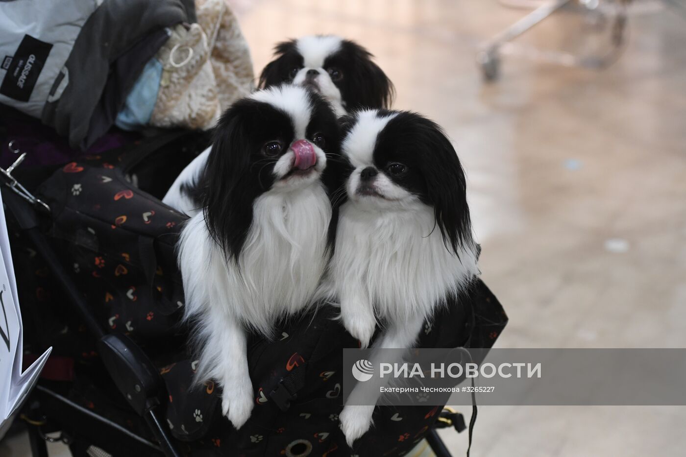
[[[346,329],[366,347],[377,321],[385,326],[375,347],[411,347],[421,325],[478,273],[475,246],[447,249],[434,209],[379,170],[375,189],[386,198],[356,193],[362,169],[389,119],[364,112],[343,143],[355,167],[346,183],[335,252],[326,287],[338,297]],[[355,395],[355,390],[351,395]],[[372,423],[373,406],[345,406],[340,421],[349,445]]]

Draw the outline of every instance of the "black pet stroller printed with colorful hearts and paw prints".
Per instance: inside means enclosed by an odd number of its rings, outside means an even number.
[[[159,198],[207,143],[169,131],[59,167],[19,167],[18,183],[1,186],[25,347],[54,347],[21,412],[34,457],[47,456],[45,439],[74,456],[400,456],[423,439],[451,455],[436,428],[462,431],[464,420],[433,406],[377,408],[372,432],[347,447],[341,349],[357,342],[324,307],[284,322],[278,341],[249,342],[257,406],[241,430],[222,417],[220,388],[192,388],[174,255],[186,216]],[[493,345],[507,322],[495,296],[477,281],[460,300],[421,346]],[[405,420],[388,420],[397,412]]]

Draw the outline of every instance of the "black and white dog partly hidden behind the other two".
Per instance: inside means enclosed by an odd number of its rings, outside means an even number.
[[[337,115],[353,108],[388,108],[393,84],[372,62],[364,47],[338,36],[305,36],[276,45],[275,59],[262,71],[259,85],[269,88],[283,82],[307,86],[327,99]],[[209,149],[202,152],[176,178],[163,202],[194,215],[201,201],[193,191],[200,183]]]

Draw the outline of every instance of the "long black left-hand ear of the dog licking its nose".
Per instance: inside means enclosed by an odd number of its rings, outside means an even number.
[[[252,202],[259,189],[250,183],[250,143],[242,125],[239,101],[217,122],[203,178],[207,227],[227,259],[238,259],[252,223]],[[246,182],[247,181],[247,182]]]

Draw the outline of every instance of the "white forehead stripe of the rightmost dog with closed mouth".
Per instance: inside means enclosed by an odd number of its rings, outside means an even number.
[[[353,167],[363,167],[374,163],[374,146],[379,132],[386,127],[388,121],[397,116],[391,113],[384,117],[377,117],[377,110],[364,110],[357,113],[355,126],[343,140],[343,154],[348,157]]]

